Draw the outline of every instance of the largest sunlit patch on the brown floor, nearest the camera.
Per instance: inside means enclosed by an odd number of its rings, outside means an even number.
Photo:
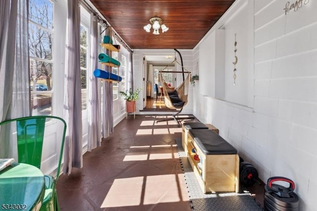
[[[101,208],[189,201],[186,188],[180,188],[181,186],[184,186],[184,174],[114,179]]]

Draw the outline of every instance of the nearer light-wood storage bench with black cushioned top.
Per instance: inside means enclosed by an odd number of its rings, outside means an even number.
[[[239,156],[233,146],[208,129],[189,129],[184,145],[204,193],[239,192]]]

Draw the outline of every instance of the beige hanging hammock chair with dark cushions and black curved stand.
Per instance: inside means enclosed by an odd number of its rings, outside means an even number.
[[[195,117],[176,117],[183,110],[183,107],[186,106],[186,104],[187,104],[188,86],[189,86],[189,79],[191,76],[190,76],[189,71],[187,71],[186,69],[185,69],[186,72],[184,71],[182,55],[176,49],[174,49],[174,50],[175,50],[175,52],[177,52],[179,54],[179,56],[181,58],[182,71],[181,72],[180,71],[164,71],[164,69],[167,67],[166,66],[163,70],[159,71],[159,78],[162,81],[165,106],[168,108],[171,108],[171,109],[180,109],[180,110],[176,114],[174,114],[172,118],[161,119],[161,120],[158,120],[157,122],[174,120],[178,124],[180,124],[179,120],[181,120],[181,119],[194,119]],[[175,56],[174,61],[176,61],[176,63],[178,63],[176,60],[176,56]],[[167,83],[163,79],[162,73],[164,73],[164,72],[182,73],[183,74],[183,82],[176,89],[170,89],[168,87]],[[185,79],[184,73],[187,73],[186,79]]]

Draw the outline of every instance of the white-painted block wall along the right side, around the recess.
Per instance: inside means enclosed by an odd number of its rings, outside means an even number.
[[[196,93],[193,113],[201,121],[219,128],[220,135],[241,157],[255,165],[265,183],[271,176],[292,179],[300,198],[300,210],[314,211],[317,198],[317,1],[306,0],[307,4],[285,15],[287,1],[247,0],[248,5],[242,9],[248,14],[253,10],[246,21],[254,22],[254,54],[247,53],[248,58],[254,56],[253,65],[247,65],[248,69],[254,66],[254,75],[250,78],[249,72],[246,83],[248,92],[254,86],[254,94],[248,97],[248,102],[254,101],[254,107],[200,95],[198,83],[193,90]],[[219,22],[230,22],[230,17],[239,9],[236,7],[244,6],[244,2],[235,1]],[[290,1],[293,2],[295,0]],[[235,24],[243,28],[245,22]],[[218,23],[211,31],[219,26]],[[238,51],[243,48],[240,45],[244,44],[243,39],[247,38],[237,36]],[[232,41],[228,45],[232,45]],[[201,44],[194,49],[193,63],[201,56],[200,47]],[[226,52],[225,57],[232,58],[232,54],[228,54]],[[239,72],[237,76],[246,77]],[[204,72],[200,70],[202,77]],[[226,90],[226,96],[228,94],[232,94],[230,90]]]

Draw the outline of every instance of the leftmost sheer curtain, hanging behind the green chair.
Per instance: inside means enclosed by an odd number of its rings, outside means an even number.
[[[28,0],[0,1],[0,121],[30,115]],[[8,144],[0,131],[0,157]]]

